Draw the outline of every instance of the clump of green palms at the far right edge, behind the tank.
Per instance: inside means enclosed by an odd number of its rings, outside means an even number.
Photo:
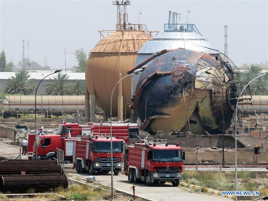
[[[240,74],[241,81],[250,82],[255,77],[261,74],[262,68],[260,66],[251,65],[251,67],[246,67],[245,72]],[[257,80],[254,80],[250,84],[250,91],[252,95],[268,95],[268,80],[267,76],[263,76]]]

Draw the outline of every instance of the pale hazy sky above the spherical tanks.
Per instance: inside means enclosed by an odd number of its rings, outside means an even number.
[[[224,52],[224,25],[228,25],[228,56],[240,66],[267,60],[268,1],[136,1],[127,6],[130,23],[146,24],[163,32],[168,12],[180,13],[181,23],[196,24],[200,33],[216,49]],[[22,58],[22,40],[27,40],[29,58],[52,68],[77,65],[74,51],[89,52],[100,40],[99,30],[113,30],[116,5],[109,1],[0,1],[0,48],[7,62]]]

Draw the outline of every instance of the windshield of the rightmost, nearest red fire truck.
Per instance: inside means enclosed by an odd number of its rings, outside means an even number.
[[[152,154],[152,160],[156,162],[162,161],[182,161],[181,150],[179,149],[154,149]]]

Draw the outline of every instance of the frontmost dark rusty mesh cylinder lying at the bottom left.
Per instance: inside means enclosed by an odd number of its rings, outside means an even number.
[[[20,175],[0,177],[0,191],[46,191],[57,186],[68,187],[67,175]]]

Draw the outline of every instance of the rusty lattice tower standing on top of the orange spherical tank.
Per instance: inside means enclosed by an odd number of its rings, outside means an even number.
[[[131,4],[131,0],[113,0],[113,5],[117,5],[117,24],[116,30],[126,30],[128,22],[127,5]]]

